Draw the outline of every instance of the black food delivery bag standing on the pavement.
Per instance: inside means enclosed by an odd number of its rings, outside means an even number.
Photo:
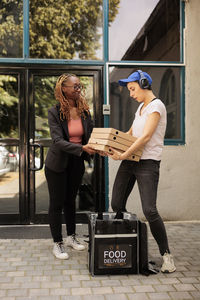
[[[99,217],[100,216],[100,217]],[[145,274],[148,270],[147,228],[135,214],[88,214],[90,273]]]

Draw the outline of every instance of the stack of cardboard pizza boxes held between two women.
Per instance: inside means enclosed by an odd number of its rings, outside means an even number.
[[[112,153],[110,147],[120,153],[125,152],[135,141],[136,137],[114,128],[94,128],[89,139],[90,146],[99,151]],[[142,155],[142,149],[133,153],[128,160],[139,161]]]

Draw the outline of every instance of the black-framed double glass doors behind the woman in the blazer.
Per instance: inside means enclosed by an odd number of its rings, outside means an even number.
[[[41,67],[41,66],[40,66]],[[0,224],[48,222],[49,195],[44,161],[51,144],[48,109],[62,73],[75,73],[85,86],[94,126],[103,126],[102,68],[0,67]],[[77,222],[105,208],[104,160],[85,165],[76,199]]]

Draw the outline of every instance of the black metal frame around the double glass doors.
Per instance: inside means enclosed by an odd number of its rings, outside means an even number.
[[[29,170],[30,139],[33,138],[34,124],[34,75],[60,75],[71,72],[94,78],[94,122],[96,127],[103,127],[103,67],[78,65],[41,65],[41,64],[9,64],[0,66],[2,75],[18,75],[19,90],[19,214],[0,214],[0,224],[44,224],[48,223],[47,214],[35,213],[34,174]],[[95,210],[105,210],[105,166],[104,159],[95,156]],[[86,213],[78,212],[77,222],[86,223]]]

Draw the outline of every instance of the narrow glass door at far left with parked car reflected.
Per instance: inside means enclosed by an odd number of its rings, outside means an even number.
[[[0,69],[0,224],[25,223],[28,215],[23,83],[23,70]]]

